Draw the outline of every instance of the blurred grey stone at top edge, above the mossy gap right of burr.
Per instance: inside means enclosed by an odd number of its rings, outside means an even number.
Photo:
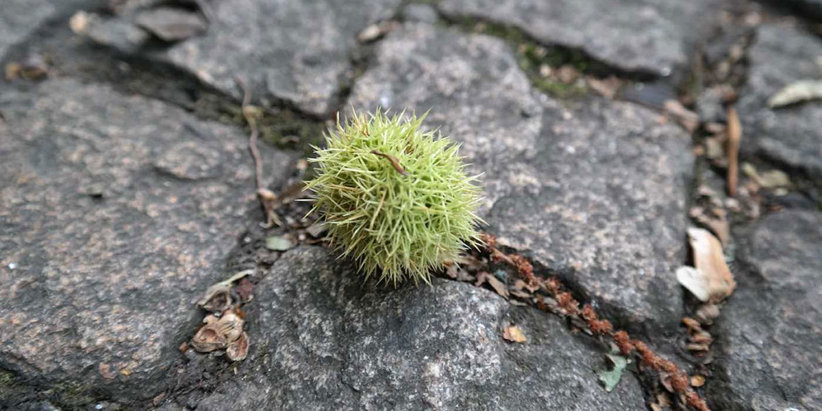
[[[580,49],[626,72],[668,76],[686,68],[718,2],[698,0],[443,0],[451,18],[514,25],[544,44]]]

